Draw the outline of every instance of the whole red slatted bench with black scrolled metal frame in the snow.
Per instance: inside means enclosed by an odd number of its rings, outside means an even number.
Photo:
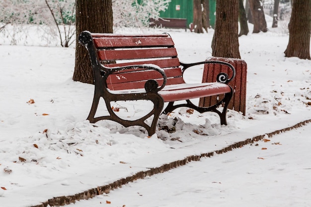
[[[200,113],[212,111],[220,116],[222,125],[227,125],[226,113],[233,89],[228,84],[234,78],[235,69],[229,63],[204,61],[193,64],[179,62],[174,42],[168,34],[118,35],[98,34],[84,31],[79,43],[88,50],[94,73],[94,97],[87,117],[90,123],[112,120],[124,127],[142,126],[152,136],[161,113],[167,114],[179,107],[189,107]],[[231,69],[231,77],[221,72],[217,81],[209,83],[186,83],[183,72],[199,64],[222,64]],[[225,94],[209,107],[199,107],[190,99]],[[94,117],[99,99],[105,101],[108,116]],[[111,102],[126,100],[150,100],[153,110],[137,120],[118,117]],[[175,101],[185,103],[175,104]],[[164,102],[168,102],[163,110]],[[223,105],[223,110],[217,109]],[[163,111],[162,111],[163,110]],[[149,126],[145,121],[153,116]]]

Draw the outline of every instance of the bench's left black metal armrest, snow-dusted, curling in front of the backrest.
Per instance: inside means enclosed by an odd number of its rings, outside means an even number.
[[[156,80],[154,80],[154,79],[147,80],[147,82],[145,83],[146,92],[157,92],[157,91],[161,90],[162,88],[164,88],[164,86],[166,84],[166,80],[167,80],[167,77],[166,77],[164,70],[161,69],[160,67],[154,65],[154,64],[129,65],[129,66],[113,67],[113,68],[108,68],[108,67],[101,65],[101,68],[102,68],[101,74],[105,80],[108,78],[109,75],[111,75],[115,72],[127,70],[127,69],[156,70],[157,72],[159,72],[162,75],[163,83],[161,86],[158,86],[158,83]]]

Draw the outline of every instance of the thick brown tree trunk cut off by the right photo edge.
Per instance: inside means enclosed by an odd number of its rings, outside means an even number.
[[[310,60],[311,0],[293,0],[285,57]]]

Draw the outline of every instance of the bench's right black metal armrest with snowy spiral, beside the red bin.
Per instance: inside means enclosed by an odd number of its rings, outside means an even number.
[[[181,63],[180,65],[183,67],[182,68],[182,72],[184,72],[186,69],[192,67],[192,66],[197,66],[197,65],[202,65],[202,64],[221,64],[221,65],[225,65],[228,66],[231,70],[232,70],[232,76],[229,78],[229,75],[225,72],[220,72],[217,75],[217,82],[222,82],[222,83],[226,83],[228,84],[234,77],[235,77],[235,69],[233,67],[233,65],[231,65],[230,63],[226,63],[223,61],[203,61],[203,62],[198,62],[198,63]]]

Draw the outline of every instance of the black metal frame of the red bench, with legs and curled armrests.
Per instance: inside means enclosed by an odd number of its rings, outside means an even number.
[[[231,92],[226,93],[224,98],[219,100],[213,106],[199,107],[193,104],[190,100],[185,100],[186,101],[185,104],[174,105],[174,101],[169,102],[166,108],[163,110],[164,100],[158,94],[158,91],[161,90],[166,84],[166,75],[163,70],[154,68],[151,66],[146,66],[146,65],[133,65],[133,66],[126,66],[126,67],[107,68],[99,62],[97,50],[94,46],[92,36],[88,31],[82,32],[79,35],[78,40],[79,40],[79,43],[84,45],[86,49],[88,50],[89,58],[90,58],[91,65],[93,68],[93,73],[94,73],[94,84],[95,84],[94,97],[93,97],[93,102],[92,102],[89,115],[87,117],[87,120],[89,120],[90,123],[95,123],[99,120],[111,120],[111,121],[115,121],[123,125],[124,127],[141,126],[141,127],[144,127],[148,131],[149,136],[152,136],[153,134],[156,133],[156,123],[161,113],[168,114],[179,107],[188,107],[188,108],[192,108],[198,111],[199,113],[204,113],[208,111],[215,112],[220,116],[221,124],[227,125],[227,120],[226,120],[227,108],[233,96],[233,88],[231,86],[230,86]],[[192,66],[196,66],[200,64],[223,64],[223,65],[228,66],[230,69],[232,69],[233,75],[230,78],[228,78],[228,74],[224,72],[219,73],[217,76],[218,82],[228,84],[229,81],[231,81],[235,76],[234,67],[231,64],[222,62],[222,61],[204,61],[204,62],[193,63],[193,64],[180,63],[180,65],[182,66],[182,72],[184,72],[186,69]],[[163,84],[161,86],[158,86],[156,80],[148,80],[145,84],[146,92],[142,92],[142,93],[115,94],[109,91],[109,89],[107,88],[106,79],[108,78],[110,74],[120,71],[120,70],[135,69],[135,68],[144,68],[144,69],[151,69],[151,70],[158,71],[163,77]],[[100,97],[104,99],[109,115],[95,118],[95,113],[98,107]],[[140,119],[137,119],[137,120],[121,119],[115,114],[115,112],[111,108],[110,103],[113,101],[127,101],[127,100],[150,100],[154,103],[154,108],[151,112],[149,112],[147,115],[145,115],[144,117]],[[219,107],[222,104],[224,104],[223,111],[219,111],[217,107]],[[148,124],[146,124],[145,121],[152,116],[154,116],[153,121],[152,121],[152,124],[149,126]]]

